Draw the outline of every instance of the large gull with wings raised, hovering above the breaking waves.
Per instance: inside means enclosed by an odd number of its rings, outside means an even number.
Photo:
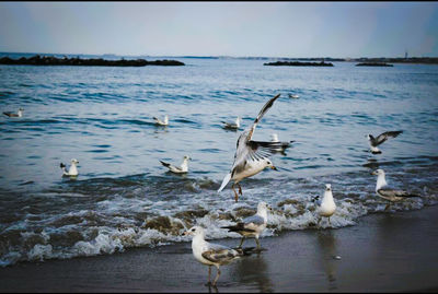
[[[239,193],[242,195],[242,187],[240,186],[239,181],[258,174],[265,169],[265,167],[270,167],[272,169],[277,170],[268,156],[275,154],[276,150],[281,148],[281,142],[252,141],[251,138],[263,115],[273,106],[274,102],[279,96],[280,94],[276,95],[263,106],[257,118],[254,120],[253,126],[243,131],[238,139],[234,163],[231,167],[231,170],[223,178],[222,185],[218,189],[218,192],[220,192],[230,180],[233,180],[234,183],[231,188],[234,192],[235,202],[239,200],[239,195],[234,189],[235,185],[239,187]]]

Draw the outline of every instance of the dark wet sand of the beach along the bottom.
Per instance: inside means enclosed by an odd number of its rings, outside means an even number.
[[[239,244],[230,238],[214,242]],[[367,215],[344,228],[287,232],[261,243],[267,250],[221,268],[217,289],[204,285],[208,268],[194,259],[191,243],[184,243],[1,268],[0,291],[438,291],[438,205]],[[253,245],[252,239],[244,244]]]

